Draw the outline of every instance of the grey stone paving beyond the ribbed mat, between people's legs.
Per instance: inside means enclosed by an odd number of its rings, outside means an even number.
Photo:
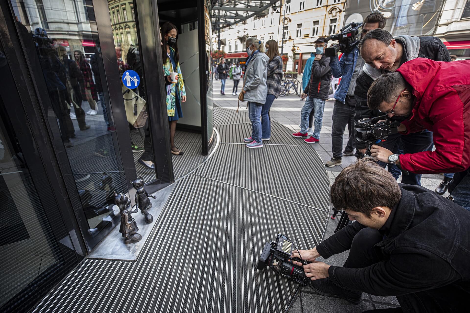
[[[299,78],[300,80],[300,78]],[[236,109],[238,97],[232,95],[233,82],[227,79],[226,95],[220,95],[220,81],[214,80],[214,102],[221,107]],[[323,126],[320,133],[320,143],[315,144],[314,147],[320,154],[323,161],[328,161],[332,157],[331,152],[331,126],[332,126],[332,113],[333,113],[333,100],[326,102],[325,111],[323,114]],[[300,100],[297,95],[290,95],[279,97],[274,100],[271,107],[271,118],[277,122],[282,123],[284,126],[290,128],[293,132],[300,130],[300,110],[304,105],[304,101]],[[240,103],[240,110],[246,111],[246,102]],[[343,143],[347,143],[348,130],[346,128]],[[301,139],[299,139],[301,140]],[[329,176],[330,185],[334,182],[335,177],[346,166],[352,164],[355,157],[343,157],[343,164],[335,166],[334,168],[325,167]],[[424,187],[434,190],[437,185],[442,181],[443,175],[438,174],[425,174],[421,178],[421,183]],[[399,182],[401,177],[399,178]],[[300,183],[300,182],[299,182]],[[447,196],[446,193],[444,196]],[[339,222],[339,216],[336,220],[329,219],[324,238],[328,238],[334,234],[334,230]],[[327,261],[330,265],[342,266],[349,255],[349,251],[330,257]],[[319,259],[321,260],[321,258]],[[324,297],[311,292],[311,289],[305,287],[302,292],[294,301],[290,313],[320,313],[320,312],[337,312],[337,313],[356,313],[372,309],[389,308],[398,306],[396,297],[377,297],[370,294],[363,293],[362,301],[359,305],[352,305],[340,298]]]

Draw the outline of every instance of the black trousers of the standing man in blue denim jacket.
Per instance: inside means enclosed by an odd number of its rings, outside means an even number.
[[[345,151],[352,152],[356,148],[354,139],[354,115],[356,100],[354,96],[346,96],[345,103],[335,101],[333,107],[333,126],[331,127],[331,143],[333,146],[333,157],[341,159],[343,157],[343,134],[348,125],[349,137]]]

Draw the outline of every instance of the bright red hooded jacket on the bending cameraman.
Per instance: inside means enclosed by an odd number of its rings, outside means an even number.
[[[407,132],[433,132],[435,151],[400,155],[403,169],[417,174],[454,173],[470,167],[470,61],[417,58],[399,69],[416,97]]]

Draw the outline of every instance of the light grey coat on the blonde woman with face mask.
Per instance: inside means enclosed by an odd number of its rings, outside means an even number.
[[[250,102],[265,104],[267,96],[267,63],[269,61],[266,53],[258,52],[248,63],[245,69],[246,91],[243,99]]]

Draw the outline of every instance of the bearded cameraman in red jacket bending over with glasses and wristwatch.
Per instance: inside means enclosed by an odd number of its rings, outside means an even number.
[[[417,58],[370,86],[367,104],[389,117],[407,117],[403,134],[433,132],[435,151],[393,154],[373,145],[371,155],[417,173],[453,173],[449,192],[470,211],[470,61],[437,62]]]

